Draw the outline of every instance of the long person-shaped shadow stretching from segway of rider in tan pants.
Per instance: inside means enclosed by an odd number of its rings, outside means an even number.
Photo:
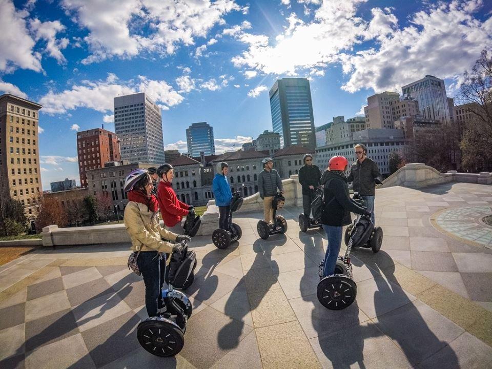
[[[277,282],[279,269],[277,262],[272,261],[272,250],[285,243],[286,237],[282,236],[265,243],[265,247],[262,247],[260,240],[253,243],[253,251],[256,253],[253,264],[232,291],[224,308],[224,314],[230,317],[230,321],[218,333],[220,348],[230,350],[237,347],[244,329],[244,317],[258,307],[271,286]],[[248,293],[254,297],[248,299]]]

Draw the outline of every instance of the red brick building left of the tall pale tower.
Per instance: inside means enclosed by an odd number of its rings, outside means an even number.
[[[88,170],[121,160],[118,136],[101,128],[77,132],[77,155],[80,186],[87,187]]]

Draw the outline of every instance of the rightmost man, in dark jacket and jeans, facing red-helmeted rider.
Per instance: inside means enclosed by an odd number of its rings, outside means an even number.
[[[375,178],[382,180],[381,173],[376,162],[367,157],[367,148],[362,144],[354,146],[357,161],[350,168],[348,182],[352,182],[352,189],[358,192],[364,200],[365,207],[371,212],[371,220],[375,224],[374,196],[376,189]]]

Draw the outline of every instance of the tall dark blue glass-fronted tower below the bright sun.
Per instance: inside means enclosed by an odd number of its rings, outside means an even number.
[[[306,78],[277,79],[270,89],[273,131],[282,148],[292,145],[316,148],[311,88]]]

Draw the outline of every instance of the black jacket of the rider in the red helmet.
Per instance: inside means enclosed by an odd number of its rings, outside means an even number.
[[[345,177],[325,170],[323,179],[326,179],[323,190],[325,206],[321,213],[321,224],[337,227],[346,226],[351,223],[350,212],[356,214],[366,212],[348,195],[348,184]]]

